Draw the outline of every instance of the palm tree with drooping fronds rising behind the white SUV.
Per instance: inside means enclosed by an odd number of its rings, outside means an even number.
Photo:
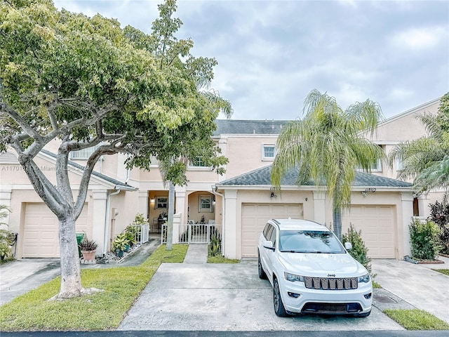
[[[333,200],[333,228],[342,238],[342,208],[351,204],[351,183],[357,169],[370,171],[382,148],[363,138],[373,133],[382,119],[380,106],[366,100],[343,111],[335,98],[313,90],[304,100],[304,119],[283,128],[276,143],[277,154],[272,166],[272,183],[297,166],[297,184],[310,180],[323,188]]]

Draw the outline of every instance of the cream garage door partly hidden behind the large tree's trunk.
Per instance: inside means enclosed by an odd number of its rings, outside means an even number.
[[[60,256],[58,218],[46,204],[27,204],[25,207],[22,256],[24,258],[58,258]],[[76,220],[76,232],[89,233],[86,205]]]

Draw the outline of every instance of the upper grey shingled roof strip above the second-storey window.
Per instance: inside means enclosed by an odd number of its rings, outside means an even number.
[[[237,135],[279,135],[283,126],[289,121],[275,120],[243,120],[243,119],[216,119],[217,130],[213,136],[222,134]]]

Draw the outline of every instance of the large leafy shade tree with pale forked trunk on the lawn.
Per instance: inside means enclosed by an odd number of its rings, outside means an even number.
[[[161,19],[173,8],[173,0],[161,4]],[[201,90],[213,78],[215,59],[194,58],[193,41],[175,39],[157,22],[145,34],[101,15],[58,11],[50,0],[0,3],[0,147],[17,152],[59,220],[60,298],[86,291],[75,221],[100,157],[128,154],[128,169],[149,169],[151,156],[175,158],[166,179],[178,184],[186,183],[189,160],[204,157],[218,171],[227,161],[210,135],[219,112],[230,113],[229,103]],[[58,145],[55,184],[34,161],[49,143]],[[90,147],[96,150],[74,191],[69,154]]]

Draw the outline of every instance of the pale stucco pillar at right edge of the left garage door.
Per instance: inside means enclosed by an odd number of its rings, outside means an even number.
[[[103,249],[107,248],[107,242],[105,242],[105,228],[109,226],[109,223],[105,223],[107,218],[106,209],[107,204],[107,190],[93,190],[93,206],[89,207],[89,211],[92,211],[92,237],[89,239],[95,240],[98,243],[97,255],[100,255]]]

